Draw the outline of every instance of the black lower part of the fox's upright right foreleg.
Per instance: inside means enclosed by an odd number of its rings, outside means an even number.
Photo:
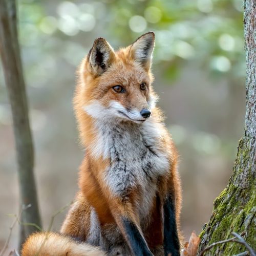
[[[180,243],[175,216],[175,203],[171,195],[164,202],[164,255],[180,255]]]

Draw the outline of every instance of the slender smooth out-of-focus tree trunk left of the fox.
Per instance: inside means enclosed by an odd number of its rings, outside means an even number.
[[[0,52],[12,109],[20,207],[31,204],[29,208],[22,212],[21,221],[41,226],[33,174],[33,141],[29,125],[26,88],[17,37],[15,0],[0,0],[0,19]],[[21,225],[20,244],[35,230],[35,226]]]

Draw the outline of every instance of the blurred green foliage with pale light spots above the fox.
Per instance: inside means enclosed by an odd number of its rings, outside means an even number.
[[[118,48],[147,31],[156,33],[154,63],[168,79],[177,78],[187,61],[214,77],[244,77],[242,5],[242,0],[20,0],[20,43],[24,53],[30,48],[26,66],[37,81],[56,73],[58,53],[77,66],[92,38],[105,36]]]

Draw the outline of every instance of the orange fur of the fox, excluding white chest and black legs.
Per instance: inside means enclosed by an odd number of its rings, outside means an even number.
[[[95,44],[92,51],[96,49]],[[98,143],[99,131],[95,126],[94,118],[84,111],[84,105],[90,105],[90,103],[96,100],[104,107],[107,107],[110,101],[117,101],[125,108],[136,108],[139,110],[147,108],[147,102],[150,100],[150,97],[157,97],[151,86],[153,75],[150,70],[150,60],[143,62],[143,65],[135,61],[136,52],[133,48],[134,44],[117,52],[114,52],[102,38],[98,39],[98,44],[104,50],[109,51],[108,62],[105,63],[109,67],[104,72],[103,65],[102,67],[92,66],[90,62],[91,55],[89,54],[83,59],[78,70],[74,110],[81,142],[86,147],[86,156],[80,166],[80,191],[61,227],[61,233],[87,241],[90,236],[90,227],[92,226],[90,216],[93,208],[97,212],[102,230],[104,230],[105,225],[117,224],[123,237],[127,239],[127,234],[122,224],[122,218],[125,217],[135,223],[151,251],[154,252],[163,245],[163,213],[161,209],[164,198],[168,193],[172,193],[175,198],[178,230],[180,227],[181,185],[177,171],[178,154],[172,138],[162,125],[162,112],[157,108],[153,108],[151,110],[152,119],[154,120],[154,125],[158,127],[160,134],[159,140],[155,143],[160,148],[160,151],[167,156],[170,167],[164,176],[159,177],[157,181],[153,181],[153,184],[156,184],[158,187],[158,192],[150,206],[148,223],[142,225],[139,216],[140,205],[144,200],[141,194],[141,187],[139,185],[134,186],[132,191],[130,191],[129,199],[124,202],[120,197],[114,195],[105,183],[106,169],[111,165],[111,159],[105,158],[103,155],[95,157],[95,145]],[[147,84],[147,90],[145,91],[141,91],[138,87],[142,82]],[[127,93],[115,93],[112,88],[117,84],[121,84]],[[72,251],[73,253],[74,248],[77,248],[77,254],[74,252],[72,255],[80,255],[80,247],[82,251],[87,246],[84,244],[78,245],[70,238],[55,233],[48,233],[47,236],[47,243],[42,246],[43,250],[40,252],[40,255],[50,255],[47,248],[52,248],[51,250],[54,251],[54,255],[66,255],[66,251]],[[33,234],[24,245],[23,255],[32,255],[32,252],[38,250],[45,237],[45,233]],[[63,250],[65,252],[61,252],[61,254],[59,252],[61,250],[55,248],[54,241],[58,241],[60,247],[63,246],[65,248]],[[161,248],[159,249],[160,252],[156,252],[156,255],[161,254]],[[95,252],[92,252],[94,249]],[[84,252],[83,255],[94,255],[90,253],[95,253],[96,255],[99,253],[99,250],[95,247],[89,246],[86,250],[88,252]],[[103,255],[103,252],[97,255]]]

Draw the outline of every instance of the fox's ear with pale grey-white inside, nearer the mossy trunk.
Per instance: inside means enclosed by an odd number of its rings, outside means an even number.
[[[140,36],[130,48],[130,54],[148,71],[151,67],[152,52],[155,46],[154,32]]]

